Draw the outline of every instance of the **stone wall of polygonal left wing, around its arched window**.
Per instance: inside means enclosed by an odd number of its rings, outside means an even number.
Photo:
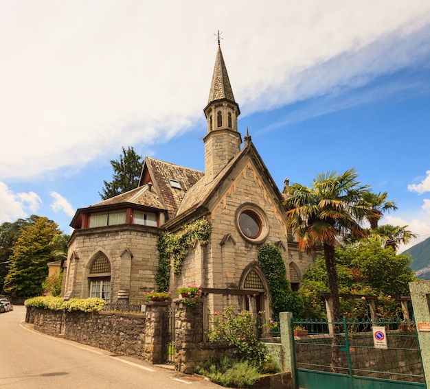
[[[159,229],[137,224],[76,230],[71,237],[64,281],[66,298],[89,297],[89,270],[98,252],[111,263],[111,300],[142,300],[155,288]]]

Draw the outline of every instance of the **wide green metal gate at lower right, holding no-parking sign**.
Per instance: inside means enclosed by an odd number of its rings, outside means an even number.
[[[296,321],[307,331],[295,336],[297,380],[302,389],[423,389],[425,384],[416,329],[380,320],[387,348],[375,347],[372,322]],[[339,326],[337,331],[334,326]],[[297,333],[297,335],[299,335]],[[338,357],[337,366],[332,356]]]

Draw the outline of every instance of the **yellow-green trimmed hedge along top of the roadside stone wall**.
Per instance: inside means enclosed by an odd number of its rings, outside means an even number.
[[[63,300],[61,297],[33,297],[25,300],[25,307],[35,307],[51,309],[52,311],[84,311],[97,312],[104,307],[104,300],[101,298],[71,298]]]

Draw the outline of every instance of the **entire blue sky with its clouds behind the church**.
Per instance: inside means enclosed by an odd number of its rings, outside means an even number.
[[[71,233],[122,146],[203,170],[219,29],[239,130],[281,190],[354,167],[397,200],[382,224],[430,236],[428,1],[0,8],[0,223],[35,213]]]

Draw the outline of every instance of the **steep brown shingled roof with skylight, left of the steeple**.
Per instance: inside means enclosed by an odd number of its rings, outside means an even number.
[[[159,193],[161,202],[163,202],[164,209],[168,211],[169,218],[172,218],[177,215],[185,194],[204,175],[204,172],[199,170],[147,156],[142,167],[139,185],[144,185],[152,181],[155,191]],[[177,180],[181,189],[172,187],[170,180]]]

